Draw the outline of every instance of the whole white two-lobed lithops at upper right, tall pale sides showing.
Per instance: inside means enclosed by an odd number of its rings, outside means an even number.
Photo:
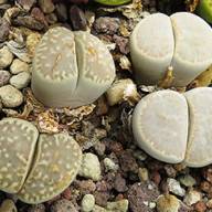
[[[212,29],[189,12],[151,14],[132,31],[130,53],[138,83],[158,84],[172,66],[172,85],[187,86],[212,64]]]

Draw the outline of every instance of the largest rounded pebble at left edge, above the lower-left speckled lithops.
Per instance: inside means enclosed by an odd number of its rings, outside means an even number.
[[[0,98],[4,107],[13,108],[23,103],[22,93],[12,85],[0,87]]]

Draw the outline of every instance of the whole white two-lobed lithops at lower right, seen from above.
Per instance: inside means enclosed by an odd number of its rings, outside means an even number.
[[[165,162],[203,167],[212,162],[212,88],[179,94],[159,91],[141,98],[132,114],[137,145]]]

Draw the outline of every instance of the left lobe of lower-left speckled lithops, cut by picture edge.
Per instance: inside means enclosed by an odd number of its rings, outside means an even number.
[[[4,118],[0,121],[0,189],[17,193],[32,162],[38,129],[29,121]]]

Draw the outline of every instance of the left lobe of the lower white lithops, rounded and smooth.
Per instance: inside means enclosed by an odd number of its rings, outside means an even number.
[[[144,97],[134,112],[132,131],[138,146],[149,155],[167,162],[181,162],[188,137],[184,96],[161,91]]]

